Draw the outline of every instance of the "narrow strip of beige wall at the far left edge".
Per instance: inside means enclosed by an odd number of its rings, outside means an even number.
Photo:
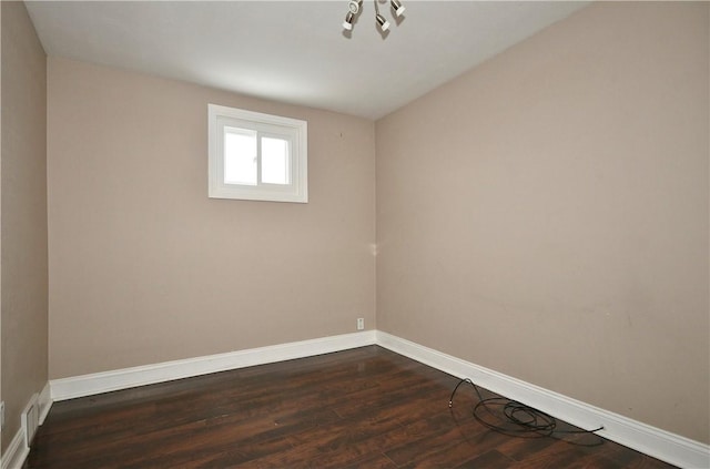
[[[0,2],[2,449],[48,379],[47,72],[44,50],[21,2]]]

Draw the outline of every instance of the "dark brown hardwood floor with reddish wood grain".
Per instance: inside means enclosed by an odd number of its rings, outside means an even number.
[[[369,346],[55,402],[24,467],[672,467],[610,441],[488,430],[470,387],[449,410],[457,383]]]

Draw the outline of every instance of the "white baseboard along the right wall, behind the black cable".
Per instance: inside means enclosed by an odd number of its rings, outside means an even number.
[[[580,428],[604,426],[598,434],[611,441],[688,469],[710,468],[710,446],[571,399],[529,383],[462,360],[409,340],[377,332],[375,343],[449,375],[542,410]]]

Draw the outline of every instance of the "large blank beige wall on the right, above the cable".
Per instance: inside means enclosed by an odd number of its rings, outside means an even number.
[[[708,442],[708,3],[598,3],[376,124],[377,328]]]

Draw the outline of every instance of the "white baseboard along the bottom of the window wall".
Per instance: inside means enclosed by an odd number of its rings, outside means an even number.
[[[50,380],[53,400],[73,399],[136,386],[225,371],[255,365],[311,357],[375,344],[375,332],[344,334],[311,340],[207,355],[184,360],[123,368]]]

